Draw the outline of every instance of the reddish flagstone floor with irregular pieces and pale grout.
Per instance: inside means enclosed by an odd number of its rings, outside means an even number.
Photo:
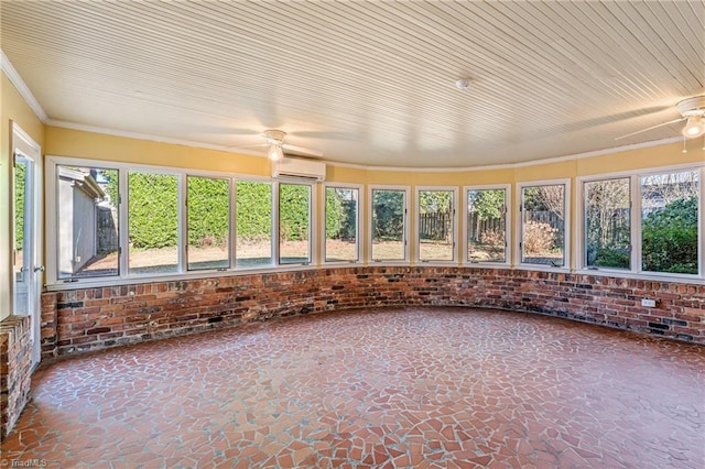
[[[42,367],[0,467],[704,468],[704,352],[466,308],[253,324]]]

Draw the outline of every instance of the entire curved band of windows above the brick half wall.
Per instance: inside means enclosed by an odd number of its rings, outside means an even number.
[[[703,168],[585,177],[574,189],[570,179],[413,193],[327,183],[318,194],[308,182],[80,163],[57,159],[47,172],[50,283],[318,261],[408,264],[411,254],[415,263],[705,274]]]

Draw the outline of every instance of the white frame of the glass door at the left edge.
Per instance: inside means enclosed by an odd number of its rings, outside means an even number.
[[[26,221],[31,223],[30,242],[32,243],[32,253],[30,259],[30,265],[28,265],[28,309],[31,317],[31,340],[32,340],[32,366],[39,364],[42,359],[42,287],[44,282],[44,263],[43,259],[43,163],[42,163],[42,148],[14,121],[11,121],[11,149],[12,149],[12,226],[14,227],[14,164],[17,154],[21,154],[23,157],[32,162],[32,193],[31,193],[31,208],[32,217]],[[14,258],[14,228],[11,232],[12,238],[12,252]],[[14,260],[13,260],[14,262]],[[13,273],[14,275],[14,273]],[[14,310],[14,277],[12,280],[12,313]]]

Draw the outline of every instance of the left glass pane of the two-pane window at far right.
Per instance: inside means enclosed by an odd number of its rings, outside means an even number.
[[[629,269],[629,178],[585,183],[585,265]]]

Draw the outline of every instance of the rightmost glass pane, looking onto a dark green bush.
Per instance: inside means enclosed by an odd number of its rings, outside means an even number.
[[[697,274],[698,198],[697,171],[641,178],[642,270]]]

